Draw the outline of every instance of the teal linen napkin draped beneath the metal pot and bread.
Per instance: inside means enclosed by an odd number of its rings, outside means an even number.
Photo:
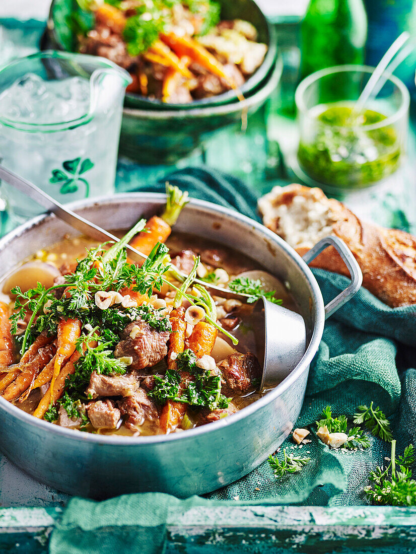
[[[256,216],[256,193],[218,171],[188,168],[173,173],[170,182],[193,197],[216,202]],[[162,191],[165,183],[141,188]],[[325,301],[345,289],[348,280],[314,270]],[[319,351],[311,364],[305,401],[296,427],[310,425],[311,443],[282,448],[311,461],[299,474],[276,479],[268,463],[206,498],[178,500],[158,493],[135,494],[94,502],[72,499],[53,531],[52,554],[163,552],[166,525],[172,514],[193,506],[229,504],[363,505],[368,474],[389,455],[389,444],[371,437],[371,447],[356,452],[330,450],[314,433],[314,422],[327,404],[336,415],[352,416],[359,404],[374,401],[388,414],[397,450],[416,441],[416,309],[391,309],[367,290],[326,322]]]

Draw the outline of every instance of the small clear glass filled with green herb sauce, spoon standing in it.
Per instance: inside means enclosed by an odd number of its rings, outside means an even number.
[[[403,160],[409,121],[409,92],[389,76],[376,98],[353,110],[374,68],[340,65],[316,71],[297,87],[300,127],[297,162],[324,188],[372,186]]]

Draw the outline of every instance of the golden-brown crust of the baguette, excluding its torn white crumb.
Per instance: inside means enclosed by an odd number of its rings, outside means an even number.
[[[301,185],[289,185],[281,189],[281,198],[286,205],[299,194],[304,197],[312,195],[317,202],[324,202],[330,208],[332,234],[347,244],[358,261],[363,273],[363,286],[388,306],[416,304],[416,238],[401,230],[363,222],[344,204],[327,198],[318,190],[320,193]],[[274,206],[280,204],[279,194]],[[267,226],[280,234],[278,221]],[[318,240],[319,238],[316,242]],[[305,245],[295,245],[295,249],[300,255],[309,250]],[[310,265],[349,276],[345,264],[333,247],[323,250]]]

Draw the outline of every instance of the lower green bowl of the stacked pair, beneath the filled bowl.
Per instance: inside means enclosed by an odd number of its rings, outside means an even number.
[[[125,107],[121,125],[120,153],[139,163],[168,164],[189,156],[215,131],[240,124],[276,90],[283,69],[275,60],[264,82],[243,101],[183,110],[149,110]]]

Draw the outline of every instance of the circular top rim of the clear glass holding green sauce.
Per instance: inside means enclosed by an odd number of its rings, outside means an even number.
[[[304,80],[302,80],[299,85],[297,85],[296,91],[295,91],[295,104],[297,113],[299,115],[300,112],[303,114],[310,115],[310,111],[312,108],[306,107],[305,101],[304,101],[304,94],[306,89],[314,84],[316,81],[322,79],[323,77],[326,77],[331,74],[336,73],[373,73],[374,71],[373,66],[371,65],[354,65],[354,64],[345,64],[345,65],[334,65],[330,68],[320,69],[318,71],[315,71],[315,73],[312,73],[311,75],[308,75],[305,77]],[[410,106],[410,93],[407,89],[407,86],[398,79],[395,75],[392,75],[391,73],[388,73],[387,81],[390,81],[394,85],[396,85],[397,89],[400,91],[400,94],[402,96],[400,106],[398,107],[397,111],[394,112],[393,115],[390,115],[386,117],[386,119],[383,119],[382,121],[379,121],[377,123],[374,123],[372,125],[357,125],[357,126],[342,126],[342,125],[332,125],[331,127],[337,128],[337,129],[354,129],[360,128],[365,129],[366,131],[374,131],[376,129],[383,129],[383,127],[388,127],[389,125],[392,125],[396,123],[398,120],[400,120],[408,111]],[[340,100],[342,102],[342,100]],[[314,106],[315,107],[315,106]],[[316,119],[314,116],[313,119]],[[325,124],[324,124],[325,125]]]

